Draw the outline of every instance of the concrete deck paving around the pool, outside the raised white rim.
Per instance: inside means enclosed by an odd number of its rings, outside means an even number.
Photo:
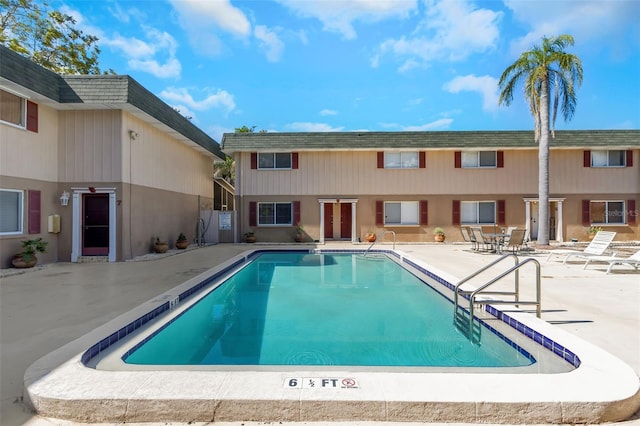
[[[327,244],[322,248],[328,248]],[[350,244],[338,244],[351,247]],[[388,248],[386,244],[380,247]],[[146,262],[44,265],[24,274],[3,271],[0,286],[3,425],[74,424],[33,416],[20,403],[25,370],[38,358],[98,328],[187,279],[254,245],[217,245]],[[362,249],[363,245],[355,246]],[[408,255],[464,277],[495,259],[458,244],[398,245]],[[640,374],[640,275],[603,265],[544,262],[542,319],[606,349]],[[597,386],[597,384],[594,384]],[[640,424],[635,419],[624,424]]]

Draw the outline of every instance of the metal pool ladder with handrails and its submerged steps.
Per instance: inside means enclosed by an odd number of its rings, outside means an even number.
[[[512,258],[514,259],[514,265],[502,272],[501,274],[495,276],[491,280],[487,281],[480,287],[473,290],[462,290],[460,287],[462,284],[468,282],[470,279],[478,276],[480,273],[486,271],[492,266],[502,262],[505,259]],[[523,266],[533,263],[536,268],[536,298],[535,300],[520,300],[520,268]],[[514,286],[513,291],[492,291],[487,290],[496,282],[500,281],[502,278],[513,274],[514,275]],[[511,296],[513,300],[509,299],[480,299],[478,300],[478,296]],[[469,302],[468,311],[460,306],[459,298],[463,297],[467,299]],[[540,290],[540,262],[536,259],[525,259],[522,262],[519,261],[518,256],[513,253],[509,253],[507,255],[502,256],[501,258],[491,262],[490,264],[484,266],[483,268],[477,270],[473,274],[468,277],[462,279],[455,287],[454,294],[454,318],[453,322],[456,328],[461,331],[469,340],[474,343],[478,343],[480,341],[480,323],[474,323],[474,305],[475,304],[489,304],[489,305],[514,305],[518,307],[519,305],[531,305],[536,307],[536,316],[540,318],[541,314],[541,290]]]

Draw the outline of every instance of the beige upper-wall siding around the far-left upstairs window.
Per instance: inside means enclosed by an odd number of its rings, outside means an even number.
[[[0,173],[3,176],[56,181],[57,111],[39,105],[38,132],[0,123]]]

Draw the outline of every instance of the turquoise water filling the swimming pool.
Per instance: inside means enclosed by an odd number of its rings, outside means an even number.
[[[482,327],[481,327],[482,328]],[[452,303],[388,258],[264,253],[124,357],[141,365],[516,367],[488,329],[473,343]]]

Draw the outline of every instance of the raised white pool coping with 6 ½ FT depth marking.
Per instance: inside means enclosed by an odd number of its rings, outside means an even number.
[[[113,330],[175,303],[204,277],[232,269],[255,252],[235,256],[36,361],[25,373],[26,397],[44,417],[83,422],[601,423],[629,418],[640,406],[640,379],[630,366],[517,311],[509,312],[514,321],[578,354],[578,368],[568,373],[521,375],[348,368],[113,372],[84,365],[87,349],[105,339],[109,342]],[[445,281],[458,281],[432,265],[400,251],[394,253]],[[312,381],[316,386],[311,386]]]

